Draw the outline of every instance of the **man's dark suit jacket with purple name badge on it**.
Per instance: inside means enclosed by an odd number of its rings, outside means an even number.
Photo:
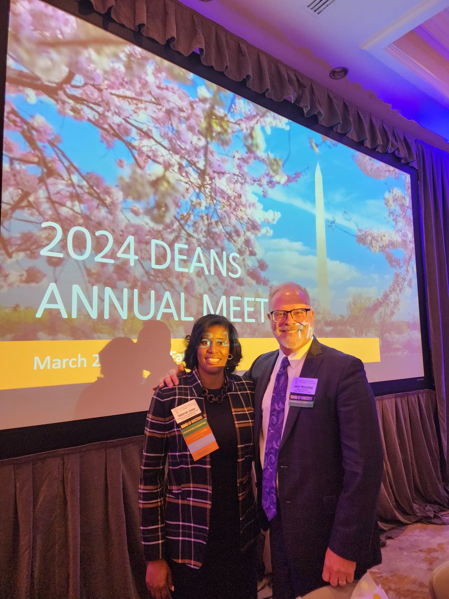
[[[254,361],[254,440],[259,444],[262,398],[278,350]],[[318,379],[313,408],[290,406],[278,456],[283,535],[294,576],[318,579],[329,546],[357,562],[356,574],[380,564],[377,501],[383,474],[374,396],[363,363],[315,338],[302,377]],[[259,493],[259,497],[260,497]]]

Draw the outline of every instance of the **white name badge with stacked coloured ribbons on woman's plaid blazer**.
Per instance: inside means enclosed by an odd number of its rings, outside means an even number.
[[[219,448],[214,434],[196,400],[171,410],[192,458],[197,461]]]

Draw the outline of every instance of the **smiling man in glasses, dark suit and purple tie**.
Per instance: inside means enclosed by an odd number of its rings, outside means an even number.
[[[380,564],[383,453],[363,364],[316,340],[308,292],[283,283],[268,304],[279,350],[257,358],[245,376],[255,386],[257,488],[270,521],[273,598],[295,599],[323,580],[344,586]]]

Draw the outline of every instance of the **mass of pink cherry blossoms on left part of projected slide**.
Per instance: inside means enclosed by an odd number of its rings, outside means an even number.
[[[37,0],[11,2],[10,32],[0,287],[59,280],[75,260],[68,256],[69,231],[81,227],[92,252],[77,261],[80,278],[74,282],[86,292],[94,285],[138,289],[147,303],[151,291],[159,299],[165,289],[174,297],[185,292],[186,309],[196,310],[195,316],[202,294],[214,302],[239,296],[243,280],[251,295],[263,297],[267,265],[257,259],[257,237],[271,235],[279,213],[264,211],[253,190],[266,197],[301,176],[265,152],[266,136],[289,129],[287,119]],[[23,98],[27,110],[19,108]],[[78,164],[64,128],[38,113],[40,102],[63,119],[95,129],[100,158],[110,159],[110,176],[96,171],[98,156],[87,168]],[[88,144],[83,151],[89,156]],[[41,255],[54,238],[43,222],[61,226],[54,251],[63,258]],[[101,231],[113,238],[104,256],[113,263],[93,259],[108,243],[104,234],[96,235]],[[130,235],[138,255],[133,266],[130,258],[117,256],[122,246],[123,256],[133,253]],[[151,268],[152,239],[165,240],[172,252],[175,243],[187,245],[187,266],[196,247],[204,249],[208,268],[211,250],[234,252],[242,276],[210,276],[201,267],[186,274],[173,264]],[[78,256],[87,244],[85,232],[72,235]],[[28,261],[25,271],[13,271],[17,255]],[[98,334],[111,323],[99,319]],[[120,319],[117,326],[123,326]],[[174,335],[184,334],[184,323],[171,326]],[[241,323],[239,333],[254,336],[257,326]],[[80,318],[66,334],[85,331]]]

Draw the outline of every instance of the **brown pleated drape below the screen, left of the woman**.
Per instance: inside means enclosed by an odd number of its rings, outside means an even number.
[[[0,462],[2,599],[147,598],[142,437]]]

